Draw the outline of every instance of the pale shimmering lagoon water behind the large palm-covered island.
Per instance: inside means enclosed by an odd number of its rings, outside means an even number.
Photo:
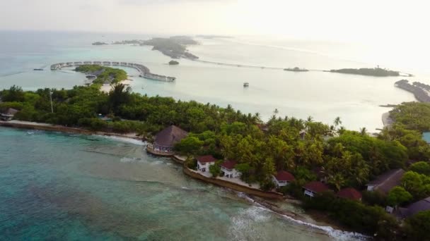
[[[169,66],[168,56],[151,47],[93,46],[92,42],[123,39],[147,39],[148,35],[91,34],[70,32],[4,32],[0,31],[0,89],[19,85],[23,89],[40,87],[70,88],[83,85],[84,75],[71,71],[33,71],[52,63],[66,61],[107,60],[142,63],[153,73],[175,76],[175,82],[158,82],[136,77],[134,92],[182,100],[211,102],[220,106],[231,104],[243,113],[260,113],[267,121],[274,109],[280,116],[294,116],[332,124],[339,116],[342,125],[352,130],[366,127],[369,131],[382,128],[381,115],[389,109],[381,104],[413,101],[414,97],[394,86],[397,77],[374,78],[310,71],[294,73],[284,70],[217,66],[180,59],[179,66]],[[198,39],[201,44],[190,51],[202,60],[223,63],[275,66],[299,66],[309,69],[372,68],[385,61],[373,62],[376,51],[362,51],[354,44],[339,45],[325,42],[294,42],[277,39]],[[250,43],[252,40],[253,43]],[[339,54],[342,53],[342,54]],[[337,53],[337,54],[336,54]],[[365,63],[345,59],[371,59]],[[398,57],[400,58],[400,56]],[[396,58],[397,59],[397,58]],[[407,62],[409,63],[409,58]],[[387,63],[390,61],[386,61]],[[385,67],[385,66],[383,66]],[[426,82],[430,75],[394,66],[416,74],[411,81]],[[250,87],[244,89],[243,82]]]

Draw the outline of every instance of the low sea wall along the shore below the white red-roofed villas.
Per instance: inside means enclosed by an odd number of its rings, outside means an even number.
[[[279,192],[265,192],[262,190],[258,190],[252,187],[247,187],[243,185],[238,185],[237,183],[231,183],[226,180],[221,180],[217,178],[207,178],[204,175],[197,173],[195,171],[192,171],[190,168],[187,168],[187,166],[184,165],[183,171],[185,174],[190,175],[192,178],[196,178],[199,180],[202,180],[207,183],[212,183],[215,185],[219,185],[221,187],[227,187],[232,190],[236,190],[238,192],[245,192],[246,194],[255,195],[257,197],[264,197],[267,199],[283,199],[284,196]]]

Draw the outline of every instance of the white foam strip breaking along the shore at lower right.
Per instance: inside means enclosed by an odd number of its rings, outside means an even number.
[[[349,241],[349,240],[369,240],[371,237],[368,237],[366,235],[362,235],[361,233],[354,233],[354,232],[347,232],[347,231],[342,231],[342,230],[337,230],[335,228],[332,228],[330,226],[322,226],[322,225],[316,225],[313,223],[306,223],[305,221],[301,221],[301,220],[297,220],[294,218],[291,218],[290,216],[287,216],[285,214],[279,214],[275,211],[272,211],[270,209],[267,209],[265,206],[262,206],[261,204],[255,202],[254,199],[250,198],[247,194],[243,193],[243,192],[238,192],[238,196],[242,197],[246,200],[248,200],[248,202],[251,202],[253,204],[255,204],[255,207],[257,209],[261,209],[264,211],[268,211],[274,214],[277,214],[279,216],[282,216],[283,218],[289,220],[289,221],[293,221],[294,223],[298,223],[300,225],[306,225],[310,228],[315,228],[318,230],[322,230],[325,233],[327,233],[327,235],[330,235],[330,237],[335,238],[335,240],[339,240],[339,241]]]

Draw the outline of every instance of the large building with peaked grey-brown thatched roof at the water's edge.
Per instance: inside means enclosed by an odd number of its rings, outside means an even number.
[[[170,125],[168,128],[161,130],[156,135],[152,144],[148,144],[146,150],[152,154],[161,154],[163,156],[173,155],[173,147],[183,138],[187,137],[188,132]]]

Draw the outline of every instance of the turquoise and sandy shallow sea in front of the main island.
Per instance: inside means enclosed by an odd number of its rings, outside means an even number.
[[[0,128],[0,240],[335,237],[351,240],[188,178],[180,165],[147,156],[141,145]]]

